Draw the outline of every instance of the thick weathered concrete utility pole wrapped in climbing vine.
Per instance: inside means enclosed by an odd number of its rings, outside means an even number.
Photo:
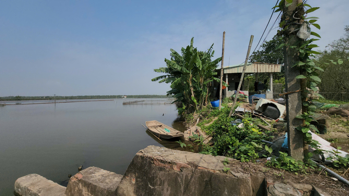
[[[302,125],[302,119],[295,118],[302,114],[302,100],[301,100],[301,81],[296,79],[300,75],[299,69],[294,65],[300,60],[299,52],[296,49],[290,48],[294,46],[299,38],[297,37],[296,29],[299,25],[295,24],[294,16],[296,12],[301,13],[297,4],[302,3],[302,0],[293,1],[292,5],[283,9],[281,21],[291,22],[287,29],[284,29],[284,41],[287,46],[284,46],[284,67],[285,67],[285,84],[286,84],[286,121],[287,121],[287,139],[288,152],[295,160],[303,160],[303,133],[296,129],[297,126]],[[300,18],[300,17],[297,17]],[[300,21],[297,21],[298,23]],[[294,31],[294,32],[293,32]],[[296,92],[298,91],[298,92]]]

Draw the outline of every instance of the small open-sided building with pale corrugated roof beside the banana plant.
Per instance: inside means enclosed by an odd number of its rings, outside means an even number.
[[[272,64],[272,63],[263,63],[263,62],[248,62],[247,67],[245,70],[245,76],[248,74],[256,74],[256,81],[258,82],[258,74],[259,73],[269,73],[270,74],[270,81],[269,81],[269,89],[270,89],[270,95],[272,96],[270,98],[273,98],[273,73],[281,72],[281,66],[282,64]],[[244,68],[244,63],[242,64],[234,64],[231,66],[223,67],[223,80],[228,81],[228,88],[225,88],[222,90],[223,98],[225,97],[231,97],[234,95],[235,91],[238,89],[241,74]],[[220,70],[221,68],[217,68],[218,77],[220,77]],[[245,78],[242,81],[242,85],[240,88],[240,91],[243,91],[246,95],[248,95],[248,89],[245,91]],[[211,92],[213,92],[213,95],[219,95],[217,91],[219,91],[219,83],[214,82],[214,85],[212,86]],[[268,97],[267,97],[268,98]]]

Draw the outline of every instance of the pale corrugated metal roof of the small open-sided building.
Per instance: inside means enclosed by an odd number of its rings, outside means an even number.
[[[263,63],[263,62],[248,62],[245,73],[275,73],[281,72],[281,64]],[[244,63],[234,64],[223,68],[225,74],[242,73]],[[217,68],[220,70],[220,68]]]

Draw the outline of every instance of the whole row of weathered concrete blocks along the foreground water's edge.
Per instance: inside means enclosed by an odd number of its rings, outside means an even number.
[[[17,179],[14,192],[21,196],[328,195],[310,184],[270,178],[263,172],[266,168],[251,165],[221,156],[148,146],[134,156],[124,176],[89,167],[71,177],[66,188],[31,174]]]

